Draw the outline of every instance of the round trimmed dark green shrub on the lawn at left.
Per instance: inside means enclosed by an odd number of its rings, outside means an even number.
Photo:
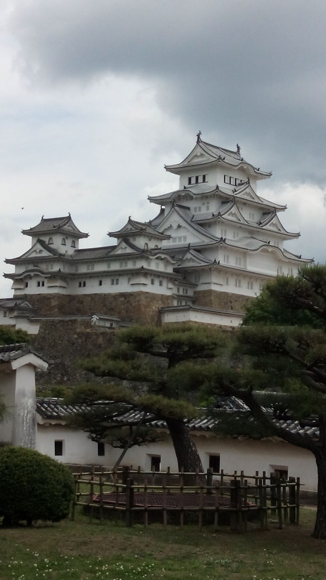
[[[3,525],[68,516],[74,479],[68,467],[24,447],[0,448],[0,516]]]

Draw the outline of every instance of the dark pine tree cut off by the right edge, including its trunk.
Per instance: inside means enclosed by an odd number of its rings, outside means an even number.
[[[269,324],[261,322],[262,300]],[[252,427],[254,436],[261,430],[314,454],[318,472],[314,536],[326,538],[326,267],[303,267],[298,278],[278,277],[257,299],[259,309],[255,302],[237,335],[237,364],[229,373],[216,367],[207,392],[238,397],[250,409],[250,414],[233,414],[221,429],[233,434],[243,429],[248,434]],[[280,325],[284,311],[287,316]],[[246,418],[247,428],[241,425]],[[284,421],[298,421],[302,429],[288,429]]]

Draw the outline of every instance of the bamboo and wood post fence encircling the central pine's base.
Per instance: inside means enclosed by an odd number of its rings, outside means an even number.
[[[191,476],[192,484],[189,485]],[[266,476],[232,474],[171,472],[144,472],[138,467],[124,467],[114,471],[74,473],[76,506],[87,506],[90,519],[120,514],[127,526],[152,521],[184,525],[229,525],[232,531],[246,531],[253,521],[262,529],[272,518],[283,524],[299,523],[299,477],[284,480],[276,473]],[[185,485],[185,483],[187,483]],[[115,516],[113,516],[115,512]],[[256,527],[257,527],[256,525]]]

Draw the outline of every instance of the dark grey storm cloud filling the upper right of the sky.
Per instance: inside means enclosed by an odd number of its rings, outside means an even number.
[[[32,84],[150,79],[160,105],[204,139],[239,141],[278,179],[324,183],[324,0],[14,6],[19,63]]]

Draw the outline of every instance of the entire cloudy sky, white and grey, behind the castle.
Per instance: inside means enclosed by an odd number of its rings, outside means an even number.
[[[152,218],[200,129],[273,171],[288,249],[324,263],[325,21],[324,0],[1,0],[1,259],[42,215],[83,247]]]

